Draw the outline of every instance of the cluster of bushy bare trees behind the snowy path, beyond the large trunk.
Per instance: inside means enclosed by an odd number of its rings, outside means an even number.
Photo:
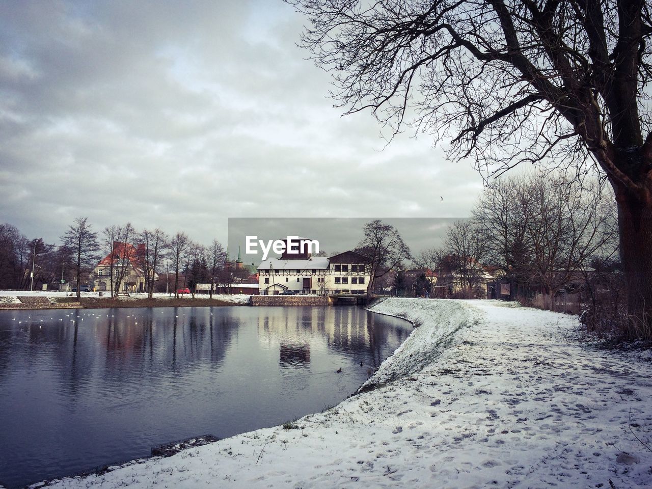
[[[582,281],[596,259],[617,259],[617,215],[613,198],[597,183],[563,175],[531,175],[495,181],[484,190],[470,220],[454,222],[442,246],[422,252],[416,262],[443,265],[463,289],[481,283],[490,271],[544,293],[544,306]]]

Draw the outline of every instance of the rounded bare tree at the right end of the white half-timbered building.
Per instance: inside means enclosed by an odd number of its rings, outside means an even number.
[[[374,282],[396,269],[404,259],[410,259],[409,247],[398,230],[379,219],[364,224],[364,237],[355,250],[363,255],[369,265],[370,278],[367,297],[374,291]]]

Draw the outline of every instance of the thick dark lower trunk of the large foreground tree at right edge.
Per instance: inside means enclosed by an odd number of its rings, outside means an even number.
[[[652,188],[644,199],[617,186],[615,193],[629,311],[625,333],[652,340]]]

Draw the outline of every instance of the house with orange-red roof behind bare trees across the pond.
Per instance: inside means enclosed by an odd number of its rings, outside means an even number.
[[[111,291],[111,271],[113,272],[113,287],[121,278],[121,292],[141,292],[145,290],[145,272],[143,259],[145,244],[134,246],[131,243],[113,241],[113,250],[96,265],[93,274],[94,290]]]

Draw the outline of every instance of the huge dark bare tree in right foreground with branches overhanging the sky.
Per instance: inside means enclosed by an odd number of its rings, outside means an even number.
[[[291,3],[346,113],[371,110],[393,134],[411,123],[450,135],[451,156],[473,155],[489,174],[541,162],[580,176],[597,164],[617,201],[629,314],[652,336],[647,2]]]

